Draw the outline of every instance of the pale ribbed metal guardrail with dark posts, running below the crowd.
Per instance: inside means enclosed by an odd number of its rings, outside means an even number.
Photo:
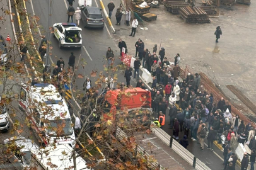
[[[164,130],[156,127],[151,127],[151,130],[154,132],[154,135],[161,139],[166,145],[172,147],[174,152],[176,152],[180,157],[187,161],[191,166],[195,167],[195,169],[211,170],[206,166],[206,164],[197,159],[191,152],[185,149],[176,140],[172,140],[172,137],[168,135],[168,133],[166,133]]]

